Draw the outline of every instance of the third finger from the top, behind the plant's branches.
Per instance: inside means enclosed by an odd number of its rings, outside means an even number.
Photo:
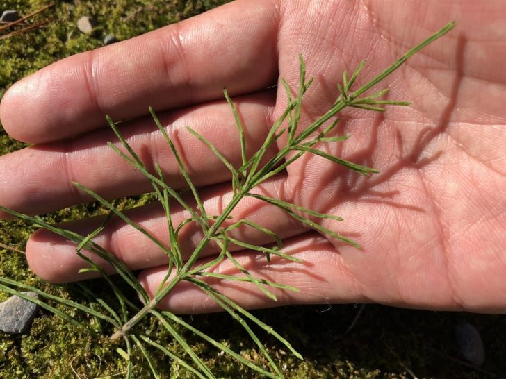
[[[284,185],[286,185],[286,175],[280,174],[256,187],[254,191],[265,196],[277,197],[278,193],[283,192],[281,187],[284,187]],[[232,192],[228,183],[213,185],[204,189],[201,198],[206,213],[210,216],[221,214],[227,203],[229,203],[231,196]],[[186,200],[191,206],[195,206],[195,202],[190,200],[189,193]],[[126,212],[126,214],[134,223],[142,226],[149,234],[170,249],[170,246],[168,246],[170,239],[167,219],[160,203],[135,208]],[[175,228],[188,217],[190,217],[190,213],[179,204],[171,205],[171,218]],[[226,221],[227,224],[234,224],[240,219],[248,219],[263,226],[263,228],[272,230],[281,239],[298,235],[307,230],[307,227],[299,224],[298,221],[295,221],[275,205],[264,203],[252,197],[246,197],[240,201],[231,212],[231,217]],[[73,221],[62,227],[81,235],[88,235],[103,222],[104,217],[93,217]],[[231,230],[228,234],[230,237],[247,244],[262,245],[274,242],[270,235],[250,226],[240,226]],[[202,230],[196,223],[190,223],[181,228],[178,240],[183,260],[188,259],[188,256],[199,244],[202,237],[204,237]],[[156,246],[152,240],[116,217],[113,217],[106,224],[106,228],[93,241],[111,252],[132,270],[156,267],[168,262],[165,252]],[[241,249],[240,246],[229,246],[229,248],[231,251]],[[202,255],[212,255],[218,253],[218,251],[220,251],[220,248],[210,243]],[[83,253],[101,267],[104,267],[109,273],[113,272],[105,260],[97,258],[97,255],[90,252],[83,251]],[[76,245],[47,230],[39,230],[28,240],[26,258],[31,269],[42,279],[50,282],[66,283],[97,276],[89,272],[78,273],[80,269],[89,267],[89,265],[76,255]]]

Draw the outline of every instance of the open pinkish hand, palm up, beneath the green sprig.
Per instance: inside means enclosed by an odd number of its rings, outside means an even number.
[[[279,74],[297,88],[299,53],[307,63],[307,76],[315,77],[304,97],[304,126],[332,105],[344,69],[352,71],[366,58],[357,84],[366,83],[409,47],[455,19],[457,27],[450,35],[414,56],[377,88],[390,87],[389,99],[409,100],[412,106],[389,107],[382,114],[345,110],[337,133],[352,137],[319,146],[375,167],[379,174],[359,177],[308,154],[259,189],[343,217],[345,221],[325,221],[323,226],[352,237],[363,250],[248,199],[234,217],[247,216],[275,230],[284,237],[284,251],[304,262],[268,264],[251,251],[235,254],[254,275],[300,289],[275,292],[277,304],[379,302],[504,312],[505,17],[500,0],[245,0],[117,46],[67,58],[24,79],[3,98],[0,117],[8,133],[39,145],[1,158],[0,176],[10,184],[0,183],[0,203],[21,212],[47,212],[88,201],[70,188],[70,180],[108,198],[149,190],[140,174],[106,148],[113,137],[101,128],[104,113],[115,120],[138,117],[122,133],[143,159],[161,164],[170,185],[183,187],[174,158],[162,148],[161,137],[152,137],[149,119],[142,118],[152,105],[161,112],[197,185],[209,186],[204,189],[205,205],[209,214],[217,214],[229,196],[227,171],[183,126],[195,127],[240,165],[233,117],[221,100],[224,85],[244,119],[251,153],[286,106],[284,89],[279,86],[275,93],[269,85]],[[128,64],[118,59],[125,54],[131,57]],[[213,121],[217,119],[220,122]],[[74,135],[81,136],[65,140]],[[83,164],[100,168],[80,170]],[[12,184],[23,178],[31,180],[19,187]],[[184,218],[182,210],[174,208],[174,214]],[[131,217],[168,239],[158,205],[135,210]],[[85,233],[98,222],[81,221],[71,227]],[[183,234],[181,244],[190,252],[199,235],[192,228]],[[256,244],[270,242],[247,229],[240,230],[240,237]],[[109,224],[97,242],[130,267],[145,269],[140,280],[148,292],[154,292],[165,276],[163,253],[119,221]],[[84,278],[76,274],[82,262],[73,249],[41,231],[31,237],[26,253],[35,273],[65,282]],[[211,246],[206,254],[213,253]],[[215,269],[234,273],[229,262]],[[213,284],[247,308],[276,305],[254,287]],[[174,312],[217,309],[186,284],[161,306]]]

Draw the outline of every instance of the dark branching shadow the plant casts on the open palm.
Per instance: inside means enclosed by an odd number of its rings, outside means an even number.
[[[319,157],[315,159],[313,155],[304,155],[297,161],[296,180],[291,183],[290,190],[287,191],[289,193],[281,194],[281,197],[291,199],[291,201],[302,199],[304,207],[321,212],[332,210],[336,208],[336,204],[347,201],[382,203],[391,205],[393,208],[423,212],[425,203],[422,201],[420,201],[420,205],[389,201],[396,194],[400,194],[402,189],[394,187],[382,191],[376,190],[376,188],[388,183],[402,170],[412,170],[411,175],[416,175],[416,171],[432,164],[443,154],[443,149],[440,149],[432,151],[430,155],[423,155],[427,151],[427,146],[434,142],[434,139],[446,133],[450,117],[455,110],[462,81],[464,50],[465,40],[459,37],[455,47],[455,77],[450,84],[448,101],[443,109],[435,112],[436,115],[439,115],[439,119],[435,119],[436,116],[432,115],[434,126],[425,126],[413,134],[411,130],[407,133],[404,132],[402,126],[394,126],[395,119],[392,120],[389,113],[385,115],[382,112],[375,112],[372,120],[366,118],[359,120],[358,123],[354,118],[355,115],[345,115],[341,117],[338,126],[336,126],[335,134],[354,137],[354,132],[358,131],[361,133],[359,142],[352,149],[347,149],[345,144],[327,144],[323,147],[329,155],[345,157],[351,162],[357,162],[367,167],[381,165],[384,169],[372,176],[363,176],[344,167],[330,165]],[[382,129],[386,132],[379,135]],[[389,139],[382,140],[385,137]],[[385,144],[395,146],[395,150],[389,151],[390,156],[385,154]],[[324,169],[320,168],[322,166]],[[332,195],[325,196],[325,202],[322,203],[320,192],[327,188]],[[304,191],[307,191],[307,194]],[[304,196],[300,194],[304,194]],[[356,236],[357,234],[355,232],[352,235]]]

